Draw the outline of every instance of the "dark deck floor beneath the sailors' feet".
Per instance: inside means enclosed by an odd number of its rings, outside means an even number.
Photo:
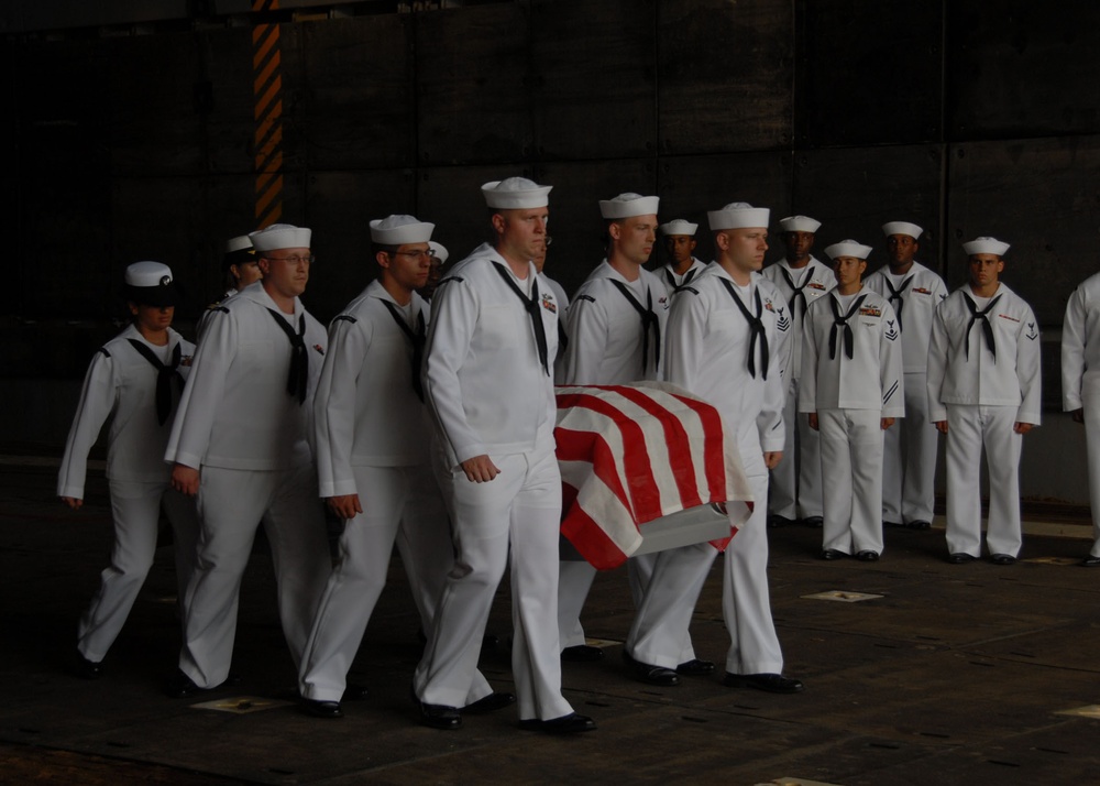
[[[1100,783],[1100,570],[1076,565],[1089,547],[1084,522],[1041,528],[1062,536],[1028,534],[1012,567],[948,565],[937,530],[889,531],[876,564],[824,563],[820,532],[772,530],[772,605],[787,673],[806,683],[798,696],[719,685],[721,564],[692,625],[697,653],[718,661],[719,674],[667,689],[635,681],[619,657],[631,618],[626,576],[602,574],[584,622],[606,657],[566,664],[563,679],[600,729],[556,739],[518,731],[513,710],[453,732],[416,723],[408,685],[420,645],[397,560],[352,670],[372,697],[345,702],[341,720],[294,705],[271,559],[260,549],[242,593],[234,669],[243,681],[201,699],[238,711],[161,692],[178,647],[170,547],[158,552],[102,678],[77,679],[76,621],[111,539],[106,485],[95,477],[74,513],[54,500],[48,467],[2,469],[3,784]],[[810,597],[831,591],[878,597]],[[505,587],[491,622],[503,637],[508,604]],[[482,667],[497,689],[512,688],[503,645]]]

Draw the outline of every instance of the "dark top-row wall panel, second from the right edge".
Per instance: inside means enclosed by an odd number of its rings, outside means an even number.
[[[941,139],[943,0],[798,0],[795,143]]]

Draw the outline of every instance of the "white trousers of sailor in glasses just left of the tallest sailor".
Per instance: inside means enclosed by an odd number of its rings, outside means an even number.
[[[386,585],[398,533],[405,533],[406,570],[424,630],[454,561],[447,509],[430,467],[353,467],[363,512],[344,523],[337,565],[306,644],[299,688],[307,699],[340,701],[348,670]],[[411,568],[411,570],[409,570]],[[480,674],[476,701],[492,692]]]

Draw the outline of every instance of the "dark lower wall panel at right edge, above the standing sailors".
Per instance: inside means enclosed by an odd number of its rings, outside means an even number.
[[[1074,287],[1097,272],[1098,171],[1097,135],[953,148],[948,282],[967,277],[960,243],[993,236],[1012,244],[1004,282],[1032,304],[1043,325],[1060,325]]]

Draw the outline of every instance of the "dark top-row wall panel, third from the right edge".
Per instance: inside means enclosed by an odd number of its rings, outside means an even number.
[[[791,143],[792,3],[658,3],[661,153],[727,153]]]

